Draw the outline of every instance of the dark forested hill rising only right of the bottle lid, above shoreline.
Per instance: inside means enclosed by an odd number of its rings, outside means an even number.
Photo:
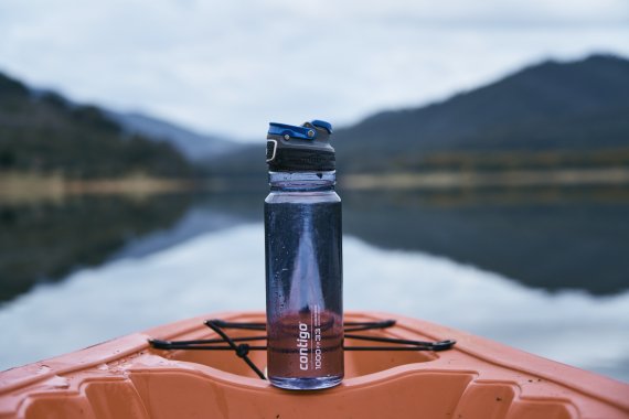
[[[443,103],[374,115],[338,130],[334,147],[347,170],[443,152],[629,148],[629,61],[544,62]]]

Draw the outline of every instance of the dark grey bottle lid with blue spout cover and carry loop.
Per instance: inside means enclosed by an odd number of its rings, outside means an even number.
[[[319,119],[301,126],[270,122],[266,162],[274,172],[327,172],[335,169],[332,125]]]

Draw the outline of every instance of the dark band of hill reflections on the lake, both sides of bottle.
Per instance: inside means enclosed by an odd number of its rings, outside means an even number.
[[[499,272],[527,287],[614,294],[629,288],[629,191],[350,193],[344,232]],[[0,204],[0,303],[82,267],[141,257],[262,221],[264,192],[75,197]]]

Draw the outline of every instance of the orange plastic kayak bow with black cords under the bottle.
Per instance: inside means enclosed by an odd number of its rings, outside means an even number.
[[[393,319],[392,327],[363,333],[457,344],[439,352],[347,351],[343,383],[319,391],[270,387],[232,351],[149,344],[215,339],[204,325],[215,318],[265,320],[259,312],[215,313],[2,372],[0,418],[629,418],[627,384],[387,313],[351,312],[345,321]],[[360,345],[345,339],[347,347]],[[248,356],[264,369],[264,351]]]

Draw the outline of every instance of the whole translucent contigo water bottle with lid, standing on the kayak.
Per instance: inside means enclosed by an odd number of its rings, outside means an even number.
[[[271,122],[265,200],[267,376],[313,390],[343,378],[341,198],[332,126]]]

